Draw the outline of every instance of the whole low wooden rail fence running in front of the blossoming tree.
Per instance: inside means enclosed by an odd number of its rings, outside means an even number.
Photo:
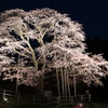
[[[50,97],[15,94],[13,91],[0,90],[0,102],[10,104],[12,108],[55,108],[66,106],[70,108],[77,102],[91,102],[91,94],[77,95],[70,97]]]

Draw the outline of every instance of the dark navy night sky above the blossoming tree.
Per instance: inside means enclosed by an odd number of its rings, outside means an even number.
[[[108,3],[104,0],[0,0],[0,12],[50,8],[83,25],[87,38],[108,39]]]

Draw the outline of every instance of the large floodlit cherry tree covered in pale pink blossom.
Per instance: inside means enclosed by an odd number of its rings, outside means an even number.
[[[18,84],[42,84],[44,72],[54,71],[58,95],[70,95],[69,80],[81,76],[90,84],[102,84],[108,62],[85,52],[82,25],[51,9],[9,10],[0,14],[0,69],[4,79]]]

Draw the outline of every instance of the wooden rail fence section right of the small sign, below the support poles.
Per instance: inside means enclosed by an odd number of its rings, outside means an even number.
[[[71,108],[71,106],[76,105],[76,103],[89,103],[91,102],[91,94],[83,94],[83,95],[77,95],[76,97],[51,97],[51,108],[54,107],[66,107]]]

